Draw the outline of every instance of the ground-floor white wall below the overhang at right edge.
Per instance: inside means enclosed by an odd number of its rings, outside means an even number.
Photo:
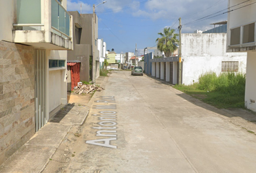
[[[245,84],[245,107],[256,112],[256,53],[248,52],[247,56],[247,75]],[[255,102],[251,102],[251,99]]]

